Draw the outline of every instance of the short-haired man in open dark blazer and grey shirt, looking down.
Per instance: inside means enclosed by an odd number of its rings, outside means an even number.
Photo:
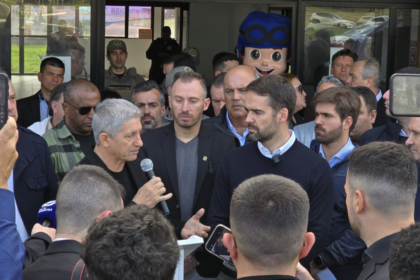
[[[235,148],[233,137],[201,124],[203,111],[210,104],[206,97],[207,87],[200,74],[176,73],[169,93],[174,122],[142,135],[140,157],[153,161],[156,176],[167,193],[174,195],[166,203],[178,238],[185,237],[181,229],[193,214],[206,221],[219,164]],[[195,260],[192,262],[187,272],[195,267]]]

